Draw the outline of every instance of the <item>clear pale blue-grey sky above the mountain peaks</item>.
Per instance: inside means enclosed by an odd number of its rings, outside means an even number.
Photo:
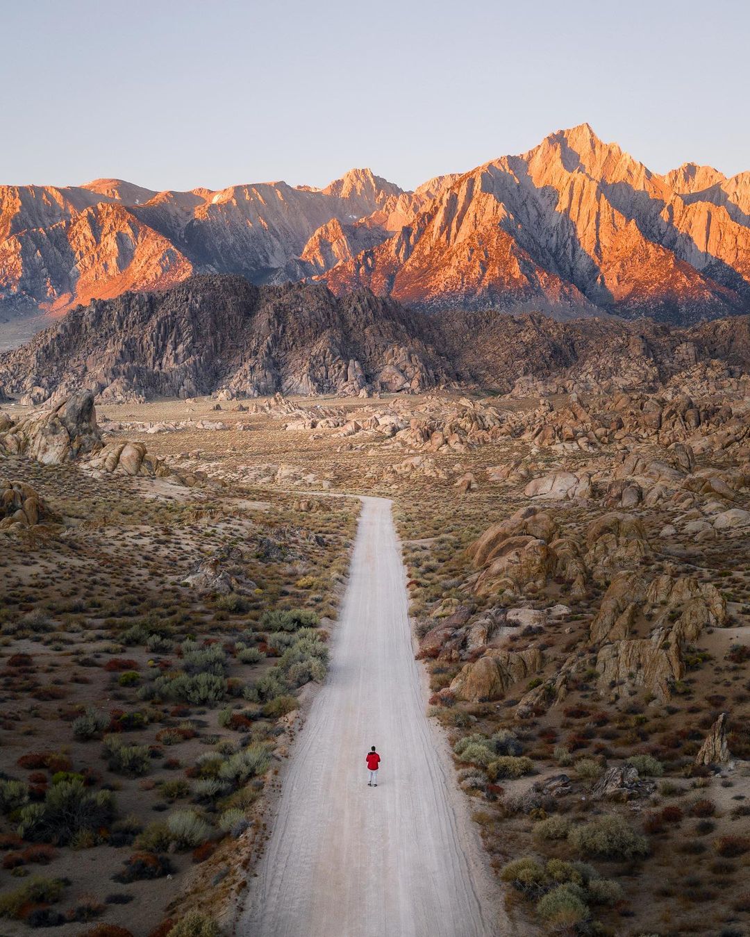
[[[746,0],[0,0],[0,32],[0,183],[413,187],[583,121],[750,169]]]

